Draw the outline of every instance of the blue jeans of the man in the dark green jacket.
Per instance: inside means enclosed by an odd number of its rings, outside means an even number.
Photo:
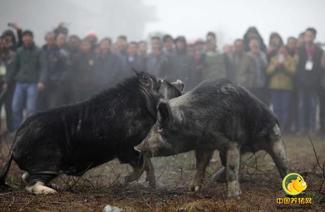
[[[37,83],[17,82],[12,100],[14,130],[20,127],[24,107],[26,107],[27,118],[37,112],[38,94]]]

